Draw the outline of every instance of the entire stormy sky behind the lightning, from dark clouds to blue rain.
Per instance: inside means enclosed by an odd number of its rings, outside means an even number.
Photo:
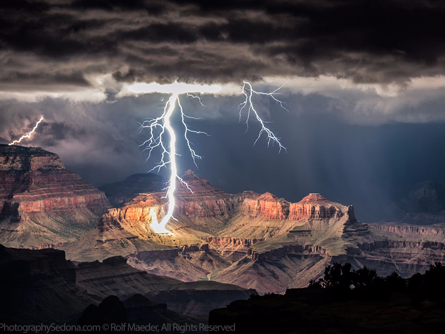
[[[363,221],[413,184],[445,182],[445,4],[438,1],[3,0],[0,143],[60,155],[100,186],[147,172],[139,122],[168,94],[135,82],[218,84],[202,103],[181,96],[202,155],[178,143],[181,171],[227,192],[270,191],[296,202],[320,192]],[[239,122],[241,87],[287,152]],[[178,117],[172,120],[180,131]],[[161,173],[167,175],[167,170]]]

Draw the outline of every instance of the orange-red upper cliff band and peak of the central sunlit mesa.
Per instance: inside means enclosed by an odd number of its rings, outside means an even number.
[[[309,194],[298,203],[290,203],[284,198],[266,192],[262,195],[251,191],[240,194],[228,194],[208,183],[189,170],[182,175],[190,189],[178,182],[175,192],[175,214],[183,214],[194,218],[220,217],[230,218],[234,214],[242,213],[250,217],[267,220],[298,220],[304,219],[339,219],[348,215],[349,220],[355,221],[354,209],[338,203],[328,201],[320,194]],[[150,210],[155,207],[158,219],[167,211],[165,193],[141,193],[133,201],[127,203],[116,213],[116,219],[129,221],[149,221]]]

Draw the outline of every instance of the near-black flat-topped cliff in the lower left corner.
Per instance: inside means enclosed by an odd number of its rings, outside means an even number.
[[[13,324],[64,323],[98,301],[79,290],[75,266],[63,251],[1,244],[0,300],[2,322]]]

